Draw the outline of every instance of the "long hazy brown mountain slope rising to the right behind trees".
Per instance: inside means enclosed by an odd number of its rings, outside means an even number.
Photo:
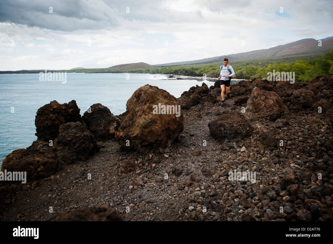
[[[306,38],[298,40],[292,43],[279,45],[269,49],[261,49],[250,52],[230,54],[223,56],[216,56],[212,58],[193,60],[193,61],[181,61],[181,62],[171,62],[163,64],[155,64],[156,66],[177,66],[184,64],[202,64],[202,63],[214,63],[222,62],[224,58],[232,60],[248,60],[257,59],[264,57],[276,57],[288,54],[314,54],[314,53],[324,53],[333,49],[333,36],[327,37],[321,40],[321,47],[318,46],[318,41],[313,38]]]

